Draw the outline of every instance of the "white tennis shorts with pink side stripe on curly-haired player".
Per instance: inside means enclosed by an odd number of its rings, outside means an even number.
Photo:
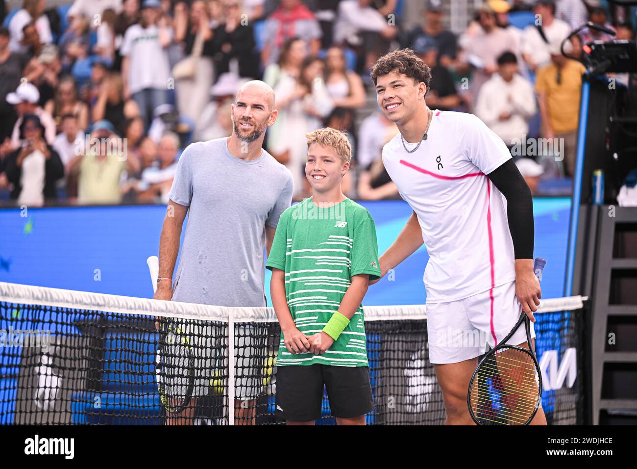
[[[429,361],[458,363],[482,355],[487,344],[494,348],[511,332],[521,312],[515,281],[462,300],[427,303]],[[531,337],[535,337],[533,323]],[[507,343],[524,342],[526,329],[522,324]]]

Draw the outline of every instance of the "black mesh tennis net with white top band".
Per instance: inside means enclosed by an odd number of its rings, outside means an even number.
[[[583,423],[582,300],[543,300],[536,315],[549,424]],[[426,307],[366,306],[364,313],[376,405],[368,424],[443,424]],[[159,365],[157,320],[178,324],[187,337],[187,378]],[[0,424],[282,424],[275,417],[279,343],[272,308],[0,282]],[[164,347],[164,357],[171,350]],[[166,410],[158,378],[190,396],[185,413]],[[334,423],[326,395],[318,423]]]

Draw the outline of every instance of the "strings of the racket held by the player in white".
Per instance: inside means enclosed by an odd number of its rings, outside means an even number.
[[[527,352],[504,348],[480,364],[469,392],[471,411],[482,424],[523,425],[538,406],[538,369]]]

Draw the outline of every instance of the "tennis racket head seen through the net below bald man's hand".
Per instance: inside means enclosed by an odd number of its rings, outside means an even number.
[[[159,399],[168,412],[180,413],[192,398],[195,359],[190,339],[172,320],[161,320],[156,361]]]

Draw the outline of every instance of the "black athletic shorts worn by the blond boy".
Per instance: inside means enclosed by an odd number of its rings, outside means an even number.
[[[349,419],[375,409],[367,366],[293,365],[276,368],[276,416],[292,422],[320,419],[324,385],[333,417]]]

